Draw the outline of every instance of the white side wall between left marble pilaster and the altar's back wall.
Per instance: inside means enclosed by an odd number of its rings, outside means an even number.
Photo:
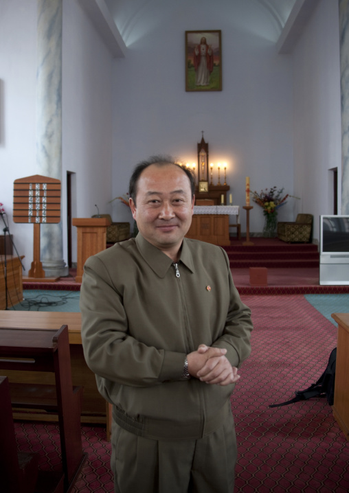
[[[111,205],[112,57],[76,0],[63,1],[63,197],[74,173],[73,217],[109,213]],[[63,200],[63,225],[67,204]],[[66,226],[63,227],[66,230]],[[76,228],[72,254],[76,262]],[[64,233],[67,255],[67,235]]]

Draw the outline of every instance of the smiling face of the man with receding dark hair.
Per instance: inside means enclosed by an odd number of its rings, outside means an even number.
[[[152,164],[139,176],[133,218],[142,236],[166,255],[177,255],[192,222],[194,198],[188,176],[175,165]]]

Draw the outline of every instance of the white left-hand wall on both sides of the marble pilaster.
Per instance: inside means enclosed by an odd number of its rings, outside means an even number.
[[[110,211],[111,62],[77,0],[63,0],[63,252],[67,262],[66,174],[74,172],[73,216]],[[36,170],[36,1],[0,2],[0,202],[27,271],[32,225],[12,222],[13,181]],[[1,227],[2,229],[2,227]],[[76,228],[73,228],[76,262]]]

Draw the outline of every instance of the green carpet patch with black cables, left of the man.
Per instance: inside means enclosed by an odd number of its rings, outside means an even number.
[[[23,301],[9,310],[21,312],[80,312],[80,291],[23,290]]]

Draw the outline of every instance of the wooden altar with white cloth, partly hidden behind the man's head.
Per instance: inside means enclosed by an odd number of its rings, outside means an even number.
[[[192,224],[186,238],[227,246],[229,239],[229,216],[237,216],[238,205],[194,205]]]

